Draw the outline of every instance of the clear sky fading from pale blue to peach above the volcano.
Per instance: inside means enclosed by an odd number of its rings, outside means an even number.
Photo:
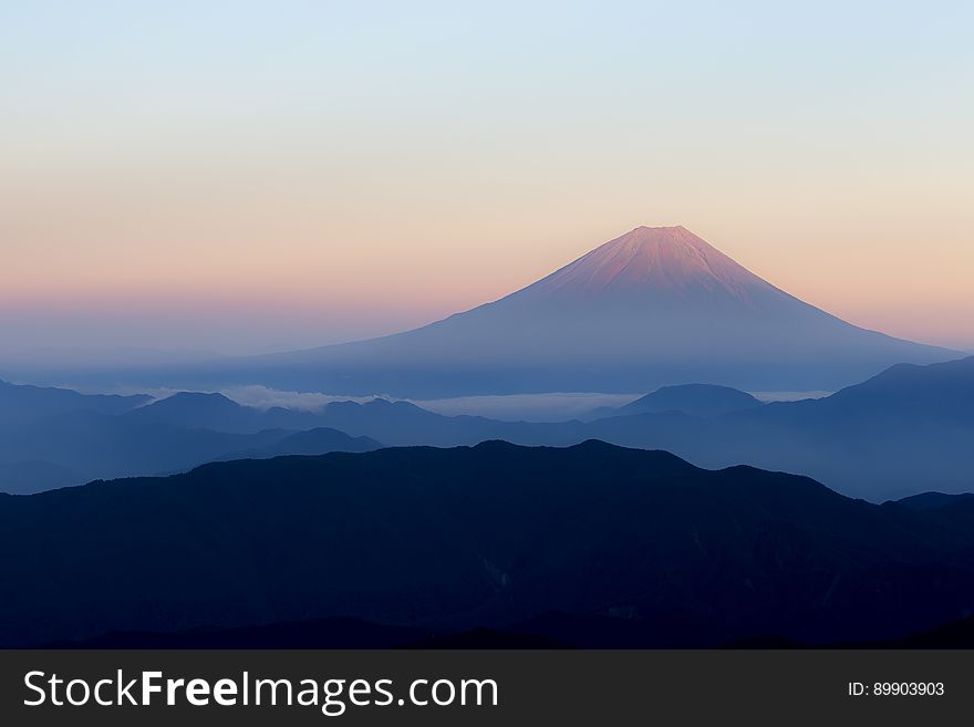
[[[282,351],[683,225],[974,350],[970,2],[0,1],[0,356]]]

